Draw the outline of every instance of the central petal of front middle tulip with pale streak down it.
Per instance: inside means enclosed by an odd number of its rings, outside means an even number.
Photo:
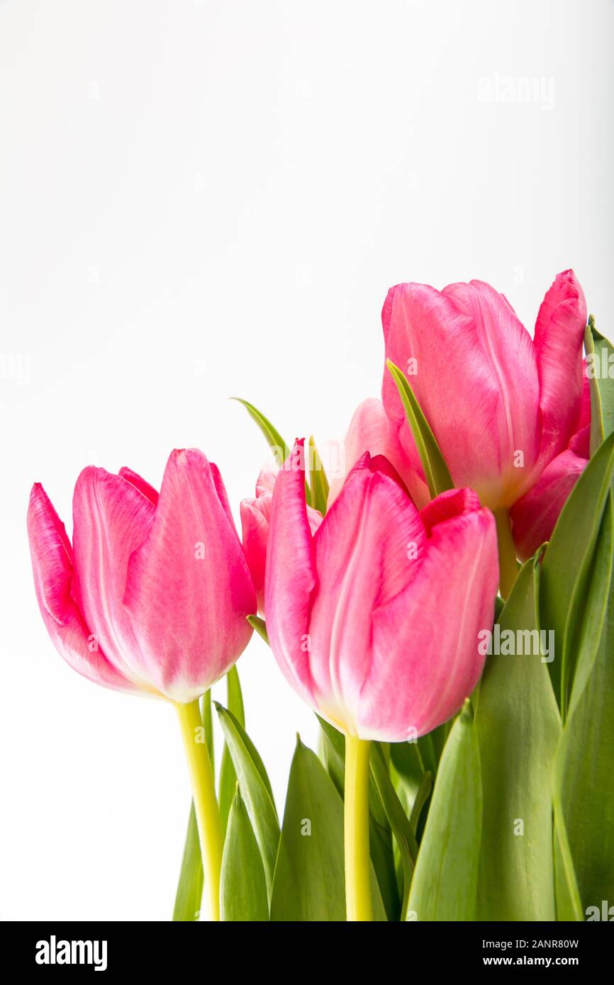
[[[412,500],[363,456],[314,537],[317,594],[309,666],[321,712],[357,732],[372,613],[416,576],[426,536]]]

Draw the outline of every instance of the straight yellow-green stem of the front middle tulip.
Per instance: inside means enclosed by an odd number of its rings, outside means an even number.
[[[345,900],[348,920],[373,920],[369,854],[371,743],[345,737]]]

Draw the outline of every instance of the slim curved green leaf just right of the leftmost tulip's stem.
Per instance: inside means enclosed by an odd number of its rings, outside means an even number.
[[[217,701],[215,706],[239,780],[241,799],[258,842],[270,897],[279,845],[279,821],[271,784],[262,759],[235,715]]]

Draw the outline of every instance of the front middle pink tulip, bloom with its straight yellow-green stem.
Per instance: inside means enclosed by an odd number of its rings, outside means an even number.
[[[365,454],[313,535],[301,461],[298,442],[273,493],[267,630],[290,685],[346,736],[348,919],[368,920],[369,743],[432,731],[477,684],[495,521],[466,489],[419,511],[388,461]]]

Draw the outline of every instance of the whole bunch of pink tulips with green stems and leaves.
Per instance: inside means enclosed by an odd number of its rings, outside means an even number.
[[[330,485],[312,439],[245,403],[277,469],[240,540],[194,449],[160,493],[86,468],[72,543],[36,484],[40,613],[84,677],[174,707],[193,797],[175,920],[609,919],[614,352],[572,271],[532,338],[479,281],[398,285],[382,325],[381,402]],[[320,726],[283,817],[245,731],[254,630]]]

